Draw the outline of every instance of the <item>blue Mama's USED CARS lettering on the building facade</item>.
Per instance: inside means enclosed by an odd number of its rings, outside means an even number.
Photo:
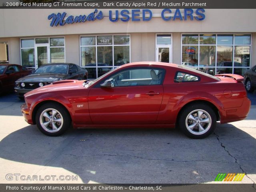
[[[163,9],[161,12],[161,18],[164,21],[170,20],[204,20],[205,19],[205,10],[202,8],[193,10],[193,9],[184,9],[184,13],[181,13],[180,9],[176,9],[175,12],[172,12],[171,9]],[[152,19],[152,11],[149,9],[132,9],[132,10],[121,10],[120,12],[116,10],[113,12],[109,11],[109,20],[111,22],[117,22],[118,20],[122,22],[128,22],[130,19],[132,21],[150,21]],[[94,12],[86,15],[79,16],[67,16],[66,12],[63,13],[52,13],[48,16],[48,20],[51,20],[50,26],[64,26],[65,24],[81,23],[86,21],[102,20],[104,18],[103,12],[98,11],[97,9]]]

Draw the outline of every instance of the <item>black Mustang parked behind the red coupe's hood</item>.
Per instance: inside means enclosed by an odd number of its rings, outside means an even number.
[[[52,82],[67,79],[86,80],[87,77],[87,70],[76,64],[52,63],[42,65],[33,74],[18,79],[14,89],[16,95],[22,99],[25,93]]]

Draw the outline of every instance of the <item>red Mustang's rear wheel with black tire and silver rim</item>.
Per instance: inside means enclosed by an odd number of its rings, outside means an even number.
[[[198,115],[200,115],[199,119],[197,119]],[[191,104],[180,113],[178,124],[180,130],[186,136],[193,139],[202,139],[212,134],[216,127],[216,121],[216,114],[210,106]]]

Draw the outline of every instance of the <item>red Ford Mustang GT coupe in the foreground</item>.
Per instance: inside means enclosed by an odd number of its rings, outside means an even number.
[[[137,62],[100,78],[63,80],[25,94],[22,113],[41,132],[74,128],[174,128],[205,138],[216,122],[246,118],[250,100],[236,74],[211,76],[184,66]]]

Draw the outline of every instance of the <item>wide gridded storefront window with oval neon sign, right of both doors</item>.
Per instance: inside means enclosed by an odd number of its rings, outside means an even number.
[[[182,34],[182,65],[208,74],[244,75],[250,51],[250,34]]]

